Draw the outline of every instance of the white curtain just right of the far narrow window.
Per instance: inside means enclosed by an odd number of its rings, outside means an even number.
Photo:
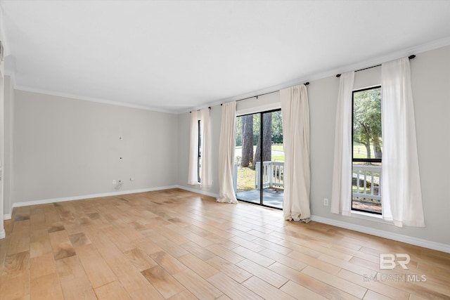
[[[211,176],[211,125],[210,109],[205,108],[200,111],[202,122],[202,170],[200,174],[200,187],[208,188],[212,185]]]

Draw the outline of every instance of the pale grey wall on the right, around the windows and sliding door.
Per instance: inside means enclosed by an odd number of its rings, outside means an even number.
[[[418,155],[421,172],[425,228],[397,228],[390,224],[330,213],[335,112],[339,79],[327,77],[308,86],[311,122],[311,214],[350,226],[365,226],[422,240],[450,245],[450,46],[419,53],[411,60],[411,80],[416,110]],[[380,84],[380,67],[356,72],[355,89]],[[276,101],[276,97],[274,97]],[[256,102],[255,102],[255,105]],[[220,106],[213,107],[213,136],[220,134]],[[216,119],[217,117],[217,119]],[[188,114],[179,118],[179,185],[187,182]],[[218,142],[217,142],[218,144]],[[214,145],[214,155],[218,148]],[[213,166],[217,173],[217,165]],[[217,187],[212,190],[218,193]]]

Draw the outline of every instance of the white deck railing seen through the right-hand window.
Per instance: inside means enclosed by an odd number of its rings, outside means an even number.
[[[356,192],[352,193],[353,199],[357,197],[381,200],[381,166],[354,164],[352,173],[352,180],[356,181]]]

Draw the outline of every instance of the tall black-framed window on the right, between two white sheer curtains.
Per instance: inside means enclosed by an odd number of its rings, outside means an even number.
[[[352,210],[381,214],[381,87],[352,95]]]

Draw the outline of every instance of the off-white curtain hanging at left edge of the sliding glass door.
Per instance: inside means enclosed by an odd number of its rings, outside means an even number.
[[[222,105],[219,141],[219,197],[217,202],[238,203],[233,188],[236,148],[236,101]]]

